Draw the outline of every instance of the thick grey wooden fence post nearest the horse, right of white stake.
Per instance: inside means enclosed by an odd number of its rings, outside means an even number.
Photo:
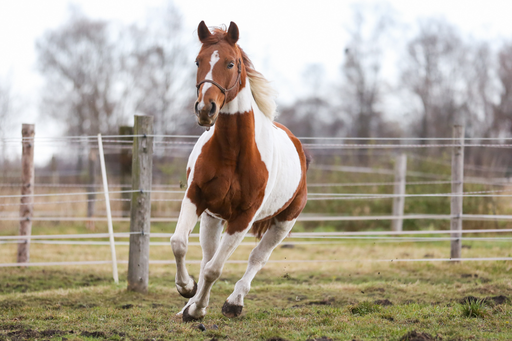
[[[128,290],[147,292],[150,263],[151,185],[153,170],[152,116],[135,116],[132,158],[132,206]],[[143,135],[143,136],[140,136]]]

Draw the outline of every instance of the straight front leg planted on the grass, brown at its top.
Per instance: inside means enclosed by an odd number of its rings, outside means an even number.
[[[206,307],[210,299],[211,286],[219,279],[222,274],[222,268],[227,259],[244,239],[247,231],[251,227],[253,217],[249,219],[237,219],[228,222],[226,233],[222,236],[221,244],[217,248],[214,257],[206,263],[203,269],[203,282],[194,298],[194,303],[186,307],[183,311],[183,322],[199,320],[206,315]],[[242,227],[243,226],[243,227]],[[230,231],[238,231],[229,233]]]

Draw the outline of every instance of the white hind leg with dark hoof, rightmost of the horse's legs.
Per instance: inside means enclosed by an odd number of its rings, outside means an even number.
[[[250,256],[247,270],[244,276],[234,286],[234,291],[229,295],[222,313],[226,317],[237,317],[242,313],[244,297],[251,288],[251,282],[257,272],[267,263],[272,250],[283,241],[293,227],[296,219],[291,221],[275,221],[265,232],[261,242],[254,247]]]

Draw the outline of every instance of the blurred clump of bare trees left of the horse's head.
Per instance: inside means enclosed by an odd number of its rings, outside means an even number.
[[[186,129],[195,70],[182,30],[172,4],[129,26],[72,8],[65,24],[36,41],[42,115],[71,135],[117,133],[136,114],[154,116],[155,133]]]

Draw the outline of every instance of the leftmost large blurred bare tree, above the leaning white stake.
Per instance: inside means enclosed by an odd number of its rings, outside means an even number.
[[[116,110],[119,63],[108,22],[78,10],[36,42],[38,68],[46,78],[41,111],[66,123],[70,134],[111,132],[123,121]]]

